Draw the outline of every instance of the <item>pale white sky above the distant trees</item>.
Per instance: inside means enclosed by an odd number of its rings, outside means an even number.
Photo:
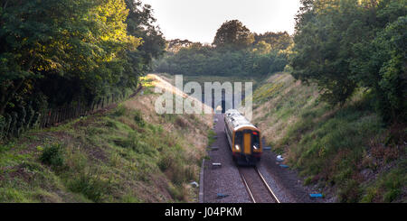
[[[166,40],[212,43],[222,23],[237,19],[251,32],[294,32],[299,0],[142,0]]]

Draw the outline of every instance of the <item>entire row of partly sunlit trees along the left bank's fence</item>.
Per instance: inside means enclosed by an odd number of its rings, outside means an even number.
[[[137,87],[165,49],[155,21],[139,0],[0,0],[0,139],[5,124]]]

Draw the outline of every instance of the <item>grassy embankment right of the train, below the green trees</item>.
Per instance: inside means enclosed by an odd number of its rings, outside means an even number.
[[[327,106],[316,86],[278,73],[255,90],[253,119],[306,185],[341,202],[406,202],[405,126],[385,126],[372,102],[360,91]]]

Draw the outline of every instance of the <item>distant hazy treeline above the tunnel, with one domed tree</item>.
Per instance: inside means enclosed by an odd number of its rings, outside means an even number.
[[[166,55],[154,70],[182,75],[264,76],[288,63],[292,39],[287,32],[252,33],[237,20],[216,32],[211,45],[188,40],[167,42]]]

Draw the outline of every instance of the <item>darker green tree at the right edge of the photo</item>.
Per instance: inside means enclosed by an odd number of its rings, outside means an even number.
[[[407,16],[378,32],[373,41],[355,44],[352,72],[361,86],[372,88],[376,108],[386,122],[407,122]]]

